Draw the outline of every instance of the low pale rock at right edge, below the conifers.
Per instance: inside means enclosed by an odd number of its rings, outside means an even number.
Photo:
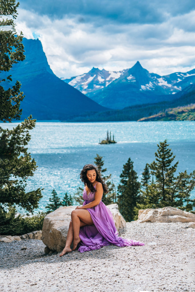
[[[139,210],[138,223],[144,222],[195,222],[195,215],[173,207]],[[193,228],[193,227],[192,227]]]

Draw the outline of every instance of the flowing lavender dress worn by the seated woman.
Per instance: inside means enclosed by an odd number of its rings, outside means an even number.
[[[94,198],[95,193],[90,192],[89,196],[87,196],[84,188],[83,206],[94,201]],[[80,228],[79,237],[81,241],[78,244],[78,250],[81,253],[111,244],[117,246],[144,245],[140,241],[118,237],[112,213],[102,201],[98,205],[87,208],[86,210],[89,211],[94,225],[85,225]]]

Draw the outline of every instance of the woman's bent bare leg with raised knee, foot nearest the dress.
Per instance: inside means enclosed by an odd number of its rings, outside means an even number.
[[[84,209],[73,210],[71,213],[72,225],[73,225],[73,251],[75,251],[78,243],[81,241],[79,237],[80,223],[85,225],[93,225],[93,221],[89,211]]]

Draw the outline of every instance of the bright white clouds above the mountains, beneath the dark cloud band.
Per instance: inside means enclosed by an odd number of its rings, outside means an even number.
[[[27,39],[33,34],[40,36],[48,63],[58,77],[80,75],[93,66],[118,71],[132,67],[137,60],[160,75],[195,67],[194,11],[167,17],[158,24],[104,22],[99,26],[95,20],[78,22],[76,15],[50,19],[24,9],[18,9],[18,14],[17,31],[22,30]]]

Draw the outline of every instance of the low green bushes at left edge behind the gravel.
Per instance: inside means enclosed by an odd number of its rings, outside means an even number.
[[[16,216],[14,206],[8,207],[8,212],[0,208],[0,234],[1,235],[22,235],[35,230],[42,230],[43,220],[46,213],[39,212],[36,216]]]

